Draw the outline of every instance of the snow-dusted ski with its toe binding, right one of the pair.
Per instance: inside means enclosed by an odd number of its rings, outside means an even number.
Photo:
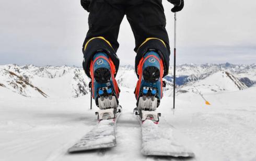
[[[194,153],[180,145],[172,135],[174,128],[159,128],[161,114],[156,111],[134,109],[134,114],[142,128],[142,154],[145,156],[193,157]]]

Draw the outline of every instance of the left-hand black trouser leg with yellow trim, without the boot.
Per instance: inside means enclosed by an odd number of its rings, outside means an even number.
[[[88,77],[90,77],[90,61],[99,49],[103,49],[110,56],[118,70],[119,59],[115,53],[119,47],[118,33],[125,12],[120,5],[112,5],[100,0],[91,1],[89,10],[89,30],[83,44],[83,67]]]

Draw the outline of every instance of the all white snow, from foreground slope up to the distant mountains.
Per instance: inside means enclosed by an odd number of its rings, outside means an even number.
[[[169,138],[168,131],[172,131],[178,143],[195,153],[195,158],[188,160],[256,160],[256,86],[239,90],[237,79],[231,80],[219,71],[222,68],[234,76],[256,80],[255,65],[234,68],[183,65],[178,68],[180,72],[181,67],[184,73],[209,75],[182,86],[182,90],[189,92],[177,93],[175,110],[172,110],[169,86],[157,109],[161,113],[158,125],[161,132],[157,137]],[[25,92],[21,94],[27,96],[20,95],[14,86],[19,85],[20,89],[21,85],[10,84],[16,83],[16,79],[4,69],[22,77],[29,76],[29,83],[48,97],[31,86],[22,89]],[[85,89],[81,91],[89,92],[89,79],[83,69],[0,66],[0,83],[4,85],[0,85],[0,160],[182,160],[142,155],[141,126],[133,116],[137,79],[133,68],[120,68],[117,79],[121,84],[119,101],[123,107],[116,127],[117,146],[110,150],[68,154],[68,148],[97,124],[98,108],[93,103],[90,110],[89,95],[79,93],[83,86]],[[199,93],[211,105],[206,105]]]

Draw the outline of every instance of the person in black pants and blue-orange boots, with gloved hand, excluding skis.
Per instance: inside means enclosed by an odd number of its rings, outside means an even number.
[[[173,13],[183,0],[168,0]],[[135,88],[137,108],[155,110],[162,98],[162,78],[168,74],[170,46],[161,0],[81,0],[89,14],[83,44],[83,68],[91,78],[92,98],[100,109],[118,107],[120,89],[115,76],[119,68],[116,54],[120,24],[124,15],[135,38]]]

